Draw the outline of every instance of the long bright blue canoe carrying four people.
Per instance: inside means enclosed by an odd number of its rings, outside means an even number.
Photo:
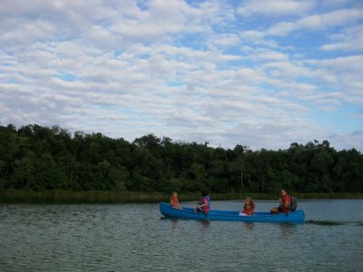
[[[162,215],[177,219],[197,220],[221,220],[221,221],[243,221],[243,222],[290,222],[303,223],[305,213],[303,210],[295,210],[289,213],[270,214],[270,212],[255,212],[253,216],[240,216],[239,211],[211,209],[208,215],[196,213],[194,209],[182,207],[174,209],[169,203],[160,203]]]

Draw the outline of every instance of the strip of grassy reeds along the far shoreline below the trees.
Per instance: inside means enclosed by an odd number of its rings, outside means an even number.
[[[298,199],[363,199],[362,193],[290,193]],[[276,194],[252,192],[211,193],[213,200],[245,199],[277,199]],[[131,191],[71,191],[71,190],[5,190],[0,192],[0,203],[151,203],[169,201],[169,194],[162,192],[131,192]],[[181,201],[199,199],[200,193],[179,193]]]

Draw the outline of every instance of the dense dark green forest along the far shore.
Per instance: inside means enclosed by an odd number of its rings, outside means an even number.
[[[133,142],[101,133],[0,125],[0,190],[274,193],[363,192],[363,155],[329,141],[286,151],[213,148],[153,134]]]

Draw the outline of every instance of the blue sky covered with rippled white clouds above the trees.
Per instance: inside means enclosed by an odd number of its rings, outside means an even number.
[[[0,123],[363,151],[363,1],[0,0]]]

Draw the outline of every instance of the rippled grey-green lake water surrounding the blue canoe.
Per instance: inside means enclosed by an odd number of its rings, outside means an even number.
[[[302,225],[165,219],[159,204],[0,204],[0,270],[362,271],[363,200],[300,200],[299,209]]]

